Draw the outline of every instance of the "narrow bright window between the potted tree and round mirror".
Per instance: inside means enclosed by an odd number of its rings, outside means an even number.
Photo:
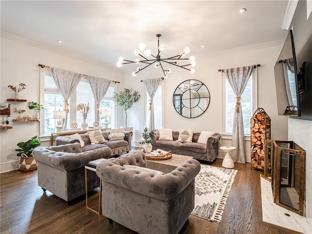
[[[162,107],[163,107],[163,96],[162,96],[162,84],[159,84],[158,89],[156,90],[155,96],[153,98],[154,102],[154,122],[155,129],[162,128]],[[150,127],[150,110],[149,110],[149,95],[146,91],[146,126]]]

